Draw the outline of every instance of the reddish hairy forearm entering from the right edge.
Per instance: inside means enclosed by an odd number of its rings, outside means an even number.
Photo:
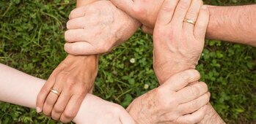
[[[256,5],[208,6],[210,22],[207,38],[219,39],[256,47]]]

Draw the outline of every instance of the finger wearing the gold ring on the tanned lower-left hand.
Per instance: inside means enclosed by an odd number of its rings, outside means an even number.
[[[56,82],[52,89],[56,90],[58,93],[62,92],[62,88],[60,87],[59,82]],[[54,104],[56,103],[58,98],[59,98],[59,95],[50,91],[50,93],[48,94],[48,96],[45,100],[45,104],[43,105],[43,114],[44,115],[51,116],[52,109],[54,108]]]

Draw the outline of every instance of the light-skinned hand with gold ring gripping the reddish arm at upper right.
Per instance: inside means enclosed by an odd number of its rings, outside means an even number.
[[[201,6],[201,0],[164,1],[153,35],[153,66],[161,84],[172,74],[197,66],[209,19],[208,9]]]

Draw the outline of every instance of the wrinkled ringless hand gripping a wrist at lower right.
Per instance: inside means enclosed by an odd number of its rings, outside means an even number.
[[[197,123],[205,116],[210,99],[207,85],[197,82],[199,79],[196,70],[175,74],[164,85],[136,98],[127,110],[137,123]]]

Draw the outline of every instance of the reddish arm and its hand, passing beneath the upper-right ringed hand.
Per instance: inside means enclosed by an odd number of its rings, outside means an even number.
[[[164,0],[111,0],[119,9],[142,23],[142,29],[153,34],[159,9]],[[208,6],[210,21],[206,37],[256,47],[256,5]],[[243,17],[243,18],[241,18]]]

